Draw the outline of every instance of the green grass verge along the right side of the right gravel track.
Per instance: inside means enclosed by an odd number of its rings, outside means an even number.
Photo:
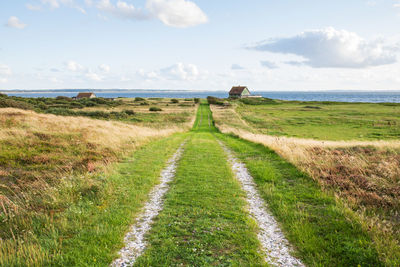
[[[310,266],[382,266],[374,243],[334,196],[272,150],[218,134],[248,167],[297,255]]]

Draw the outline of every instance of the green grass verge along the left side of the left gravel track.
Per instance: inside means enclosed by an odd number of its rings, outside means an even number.
[[[143,147],[111,174],[98,175],[96,183],[80,191],[63,212],[35,216],[26,238],[19,240],[23,243],[3,241],[0,265],[108,266],[158,183],[161,169],[184,138],[178,134]],[[66,181],[59,194],[68,199],[82,182]]]

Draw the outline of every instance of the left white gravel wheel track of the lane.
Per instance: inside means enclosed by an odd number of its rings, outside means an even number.
[[[146,249],[146,233],[151,229],[154,218],[163,208],[164,195],[169,189],[169,182],[175,176],[175,171],[179,159],[183,153],[183,142],[175,154],[168,161],[168,166],[161,172],[160,184],[155,186],[149,194],[149,201],[144,206],[142,213],[136,219],[136,223],[131,226],[130,231],[125,235],[125,247],[120,251],[120,258],[116,259],[111,266],[132,266],[135,260]]]

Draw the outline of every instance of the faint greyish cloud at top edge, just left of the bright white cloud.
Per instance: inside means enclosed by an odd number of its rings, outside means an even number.
[[[118,1],[116,5],[112,4],[110,0],[100,0],[96,4],[96,8],[110,13],[119,18],[126,19],[147,19],[146,15],[141,9],[136,8],[132,4],[123,1]]]

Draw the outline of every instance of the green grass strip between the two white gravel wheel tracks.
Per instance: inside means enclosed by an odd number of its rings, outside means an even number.
[[[263,265],[244,193],[209,130],[207,114],[202,105],[150,245],[136,266]]]

